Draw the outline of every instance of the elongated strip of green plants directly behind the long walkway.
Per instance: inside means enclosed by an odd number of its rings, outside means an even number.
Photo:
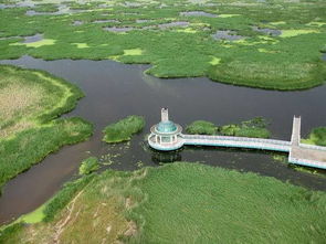
[[[199,135],[221,135],[236,137],[256,137],[269,138],[271,132],[266,129],[266,121],[261,117],[256,117],[240,124],[230,124],[217,126],[210,121],[197,120],[186,127],[188,134]]]

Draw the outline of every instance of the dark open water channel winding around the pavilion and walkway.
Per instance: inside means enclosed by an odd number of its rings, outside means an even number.
[[[81,160],[91,155],[114,161],[111,166],[114,169],[133,170],[169,160],[204,161],[326,190],[326,178],[297,172],[263,151],[187,147],[179,152],[159,153],[144,142],[149,127],[159,121],[161,107],[168,107],[171,119],[183,126],[196,119],[222,125],[263,116],[272,123],[273,137],[287,140],[293,115],[301,115],[302,132],[307,135],[313,127],[326,125],[326,86],[284,93],[224,85],[208,78],[159,79],[144,74],[146,65],[112,61],[46,62],[24,56],[0,63],[49,71],[78,85],[86,97],[65,116],[81,116],[96,128],[88,141],[64,147],[11,180],[0,198],[0,223],[30,212],[50,199],[63,182],[76,176]],[[143,134],[130,144],[112,146],[101,141],[107,124],[134,114],[146,117]]]

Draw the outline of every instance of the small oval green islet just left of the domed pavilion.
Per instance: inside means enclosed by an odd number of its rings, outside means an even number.
[[[103,140],[107,144],[115,144],[127,141],[132,139],[134,134],[143,130],[145,119],[141,116],[130,115],[126,118],[118,120],[115,124],[108,125],[103,130]]]

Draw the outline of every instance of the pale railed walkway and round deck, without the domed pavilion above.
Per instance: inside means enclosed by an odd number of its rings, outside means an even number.
[[[294,116],[291,141],[249,137],[206,136],[180,134],[173,142],[157,142],[148,137],[150,147],[157,150],[176,150],[183,145],[234,147],[288,152],[288,162],[326,169],[326,147],[301,144],[301,117]]]

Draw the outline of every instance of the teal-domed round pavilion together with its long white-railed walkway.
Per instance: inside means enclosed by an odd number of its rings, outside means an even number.
[[[185,135],[182,127],[169,120],[168,109],[161,109],[161,121],[150,128],[148,144],[160,151],[177,150],[186,146],[212,146],[249,148],[288,153],[288,162],[313,168],[326,169],[326,147],[301,144],[301,117],[294,116],[291,141],[229,137]]]

